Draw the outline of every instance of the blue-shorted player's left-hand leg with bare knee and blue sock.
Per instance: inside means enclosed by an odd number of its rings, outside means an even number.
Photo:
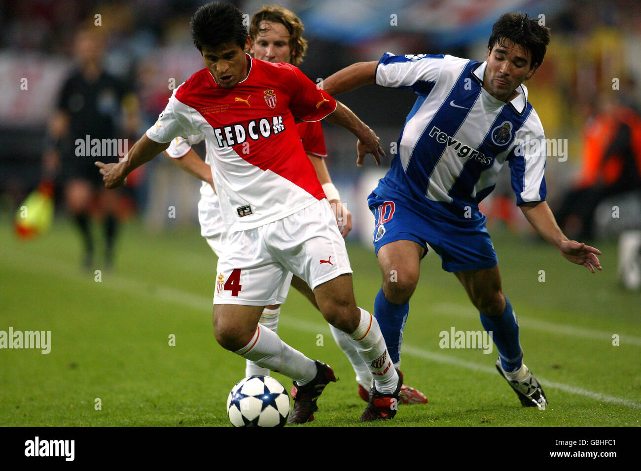
[[[413,240],[396,240],[378,251],[378,264],[383,273],[383,286],[374,301],[374,315],[385,337],[395,367],[401,365],[403,328],[410,312],[410,297],[419,281],[420,260],[425,247]],[[360,390],[359,390],[360,392]],[[425,404],[428,398],[415,388],[403,384],[403,404]]]

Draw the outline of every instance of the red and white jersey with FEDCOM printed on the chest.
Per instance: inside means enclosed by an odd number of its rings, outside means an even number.
[[[207,69],[196,72],[147,130],[155,142],[205,135],[215,157],[222,218],[232,232],[282,219],[325,197],[294,116],[313,122],[336,109],[336,101],[297,67],[247,60],[247,78],[230,89]]]

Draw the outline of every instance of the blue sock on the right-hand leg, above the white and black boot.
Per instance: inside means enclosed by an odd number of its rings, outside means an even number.
[[[505,297],[505,311],[501,317],[479,314],[483,328],[488,333],[492,332],[492,340],[499,351],[503,370],[508,373],[518,370],[523,363],[523,351],[519,343],[519,324],[517,324],[516,315],[508,297]]]

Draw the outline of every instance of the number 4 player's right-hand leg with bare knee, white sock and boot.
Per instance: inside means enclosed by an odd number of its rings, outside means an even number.
[[[394,417],[400,377],[389,358],[376,318],[356,306],[351,274],[342,274],[316,286],[314,295],[325,320],[345,333],[374,377],[370,400],[361,420]]]

